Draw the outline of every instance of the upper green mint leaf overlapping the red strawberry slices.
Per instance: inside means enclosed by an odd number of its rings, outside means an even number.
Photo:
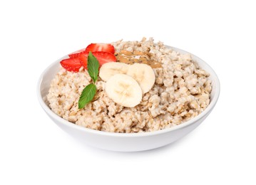
[[[88,73],[93,79],[93,82],[95,83],[96,80],[98,79],[98,68],[100,67],[100,63],[98,63],[97,58],[93,56],[93,53],[91,53],[91,51],[88,55],[87,60],[88,60],[88,64],[87,64]]]

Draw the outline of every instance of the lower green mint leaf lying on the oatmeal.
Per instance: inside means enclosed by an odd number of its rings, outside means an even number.
[[[78,101],[78,108],[82,109],[88,102],[91,102],[93,100],[94,95],[96,94],[96,85],[91,83],[86,86],[86,88],[83,89],[83,92],[79,98]]]

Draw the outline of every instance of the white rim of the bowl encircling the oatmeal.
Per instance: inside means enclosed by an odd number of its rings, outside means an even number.
[[[39,80],[38,80],[37,85],[36,85],[36,94],[37,94],[37,97],[39,99],[39,103],[40,103],[41,107],[43,108],[43,110],[48,114],[48,116],[53,117],[54,120],[57,120],[58,122],[61,122],[63,125],[71,127],[73,129],[78,129],[80,131],[88,132],[90,134],[100,134],[100,135],[103,135],[103,136],[111,136],[111,137],[146,137],[146,136],[153,136],[153,135],[157,135],[157,134],[165,134],[167,132],[171,132],[171,131],[174,131],[176,129],[182,129],[182,128],[188,127],[189,125],[192,125],[194,122],[197,122],[198,120],[201,120],[203,117],[205,117],[205,115],[208,115],[208,113],[210,113],[210,111],[213,109],[213,107],[215,107],[215,104],[217,103],[217,100],[220,96],[220,80],[217,77],[217,74],[215,73],[213,68],[211,68],[210,65],[208,65],[208,63],[206,63],[204,60],[202,60],[198,56],[195,56],[193,53],[190,53],[188,51],[184,51],[180,48],[175,48],[173,46],[167,46],[167,47],[173,49],[174,51],[178,51],[178,52],[181,52],[181,53],[189,53],[194,58],[197,58],[198,60],[200,60],[200,63],[203,63],[203,65],[206,65],[208,67],[207,72],[210,73],[211,78],[213,78],[213,80],[216,83],[215,94],[213,96],[213,99],[210,100],[210,104],[208,105],[208,107],[206,107],[206,109],[203,110],[203,112],[201,112],[196,117],[193,117],[191,120],[183,122],[180,125],[176,125],[174,127],[160,129],[160,130],[156,130],[156,131],[152,131],[152,132],[118,133],[118,132],[104,132],[104,131],[100,131],[100,130],[96,130],[96,129],[89,129],[89,128],[86,128],[86,127],[82,127],[80,125],[76,125],[72,122],[68,122],[68,120],[64,120],[62,117],[56,115],[56,113],[54,113],[50,109],[50,107],[48,107],[48,105],[46,105],[46,103],[43,101],[43,97],[42,97],[41,91],[40,91],[41,83],[42,83],[42,80],[43,80],[43,77],[44,77],[45,73],[49,69],[51,69],[54,65],[56,65],[56,63],[59,63],[60,59],[51,63],[51,65],[48,65],[48,67],[45,70],[43,70],[43,73],[41,73],[41,75],[39,77]],[[66,58],[66,56],[63,56],[62,58]],[[198,60],[196,60],[196,61],[198,62]]]

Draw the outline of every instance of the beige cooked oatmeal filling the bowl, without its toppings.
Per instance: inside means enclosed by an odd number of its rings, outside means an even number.
[[[98,78],[93,101],[78,109],[81,92],[91,83],[91,77],[83,67],[78,73],[61,67],[51,81],[47,95],[48,105],[53,112],[82,127],[131,133],[152,132],[180,125],[208,107],[212,90],[209,74],[189,54],[180,54],[161,42],[154,43],[153,38],[111,44],[116,53],[147,53],[145,58],[148,61],[160,64],[158,68],[153,68],[155,84],[148,93],[143,94],[140,104],[135,107],[116,104],[104,91],[106,82]]]

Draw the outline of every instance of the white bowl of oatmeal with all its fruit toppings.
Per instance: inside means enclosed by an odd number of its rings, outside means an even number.
[[[153,38],[91,43],[48,66],[37,85],[41,107],[61,129],[120,152],[184,137],[208,117],[219,94],[210,65]]]

